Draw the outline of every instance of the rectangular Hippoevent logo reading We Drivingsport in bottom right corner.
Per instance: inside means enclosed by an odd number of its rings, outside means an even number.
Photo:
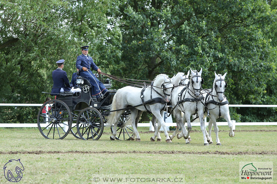
[[[272,162],[239,162],[239,181],[272,182]]]

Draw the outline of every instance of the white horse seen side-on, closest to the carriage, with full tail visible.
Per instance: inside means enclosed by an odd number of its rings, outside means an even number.
[[[133,128],[133,135],[131,136],[131,140],[140,141],[141,138],[139,137],[139,132],[136,129],[136,118],[138,115],[138,110],[141,111],[149,111],[151,112],[154,116],[156,116],[157,121],[158,121],[158,128],[156,129],[154,136],[151,137],[151,141],[155,141],[156,137],[158,136],[159,130],[161,127],[164,129],[164,135],[166,136],[166,142],[171,142],[171,139],[169,138],[169,135],[166,131],[166,125],[164,120],[162,119],[161,116],[161,111],[164,110],[166,103],[170,101],[170,95],[171,95],[171,90],[173,88],[173,83],[172,80],[173,78],[169,78],[166,74],[160,74],[156,76],[154,79],[153,87],[147,86],[145,87],[145,90],[142,93],[142,88],[138,87],[132,87],[132,86],[126,86],[121,89],[119,89],[114,97],[113,97],[113,102],[111,104],[111,110],[118,110],[115,112],[111,112],[108,121],[106,122],[107,126],[112,126],[113,127],[113,134],[111,135],[110,139],[114,140],[116,136],[116,127],[118,120],[121,116],[121,114],[124,112],[124,110],[120,110],[123,108],[131,107],[131,106],[136,106],[134,108],[130,108],[131,110],[131,116],[129,120],[126,122],[126,125],[131,124]],[[157,98],[157,100],[161,99],[160,102],[158,103],[150,103],[150,104],[142,104],[142,99],[143,101],[148,101],[151,98]],[[140,105],[140,106],[138,106]],[[145,109],[146,108],[146,109]]]

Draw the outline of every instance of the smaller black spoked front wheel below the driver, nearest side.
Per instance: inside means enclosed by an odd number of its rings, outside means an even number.
[[[104,130],[104,120],[101,113],[95,108],[85,108],[77,118],[76,128],[83,140],[98,140]]]

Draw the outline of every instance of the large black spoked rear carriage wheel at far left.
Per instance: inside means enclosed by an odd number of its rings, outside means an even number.
[[[45,110],[46,114],[43,114],[42,110]],[[38,112],[38,129],[46,139],[65,138],[71,125],[70,109],[61,100],[54,99],[45,102]]]

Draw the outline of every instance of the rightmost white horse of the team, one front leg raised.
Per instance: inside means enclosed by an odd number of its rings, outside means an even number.
[[[203,92],[203,96],[205,98],[205,104],[207,108],[209,109],[209,137],[210,140],[208,141],[210,144],[213,143],[211,132],[212,132],[212,126],[214,124],[214,132],[216,133],[216,145],[221,145],[219,138],[218,138],[218,126],[216,124],[216,119],[223,117],[228,122],[228,126],[230,128],[230,137],[234,137],[235,133],[233,132],[233,123],[230,118],[230,112],[229,112],[229,102],[227,101],[227,98],[224,95],[225,88],[227,87],[227,83],[224,80],[227,72],[222,76],[220,74],[216,74],[214,72],[215,78],[213,83],[212,91],[209,91],[208,93]],[[205,108],[203,109],[205,111]],[[207,111],[205,111],[204,118],[207,116]]]

